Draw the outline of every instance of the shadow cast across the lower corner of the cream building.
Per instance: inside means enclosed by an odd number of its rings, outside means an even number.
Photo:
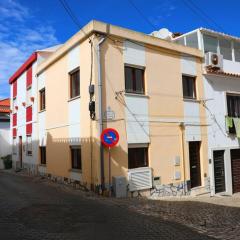
[[[57,138],[47,134],[47,173],[69,177],[72,169],[71,147],[81,146],[81,179],[88,188],[101,184],[100,141],[96,138]],[[111,149],[110,176],[125,176],[128,168],[127,152],[121,146]],[[108,149],[104,149],[105,184],[109,182]]]

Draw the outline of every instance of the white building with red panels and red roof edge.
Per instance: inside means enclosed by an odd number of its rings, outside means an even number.
[[[45,88],[41,79],[36,77],[36,69],[59,46],[37,50],[9,79],[13,167],[27,169],[32,174],[38,172],[39,151],[44,145],[39,138],[44,135],[42,131],[39,132],[44,124],[44,111],[40,111],[38,95],[45,94]]]

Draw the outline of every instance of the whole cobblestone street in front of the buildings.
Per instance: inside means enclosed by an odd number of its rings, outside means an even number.
[[[215,237],[221,232],[228,234],[222,239],[239,239],[240,236],[239,208],[197,202],[189,205],[107,199],[46,179],[6,172],[0,172],[0,183],[3,240],[214,239],[207,236],[214,236],[213,231],[206,231],[211,218],[216,219],[216,225],[211,227],[216,227]],[[219,226],[226,226],[227,232],[225,228],[220,232]]]

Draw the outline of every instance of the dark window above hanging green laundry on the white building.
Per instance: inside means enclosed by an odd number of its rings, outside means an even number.
[[[227,109],[229,117],[240,118],[240,95],[227,94]],[[236,133],[234,124],[229,133]]]

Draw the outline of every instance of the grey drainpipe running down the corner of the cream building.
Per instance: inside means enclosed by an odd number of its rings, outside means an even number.
[[[97,61],[98,61],[98,111],[99,111],[99,133],[103,130],[103,110],[102,110],[102,66],[101,66],[101,45],[106,40],[102,37],[97,44]],[[100,141],[100,173],[101,173],[101,188],[105,189],[105,176],[104,176],[104,149]]]

